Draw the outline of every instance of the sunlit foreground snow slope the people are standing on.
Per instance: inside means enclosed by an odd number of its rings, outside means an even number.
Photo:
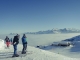
[[[18,45],[18,51],[22,50],[22,45]],[[27,51],[31,54],[25,57],[6,58],[13,55],[13,46],[9,49],[3,49],[0,51],[0,60],[80,60],[76,58],[69,58],[60,54],[52,53],[49,51],[41,50],[35,47],[28,46]]]

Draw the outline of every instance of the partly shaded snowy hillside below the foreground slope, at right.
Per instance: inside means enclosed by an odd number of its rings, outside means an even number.
[[[52,44],[50,44],[46,46],[41,46],[40,48],[44,50],[48,50],[50,52],[59,53],[68,57],[80,58],[80,35],[72,37],[70,39],[62,40],[62,41],[71,42],[72,45],[70,46],[54,46],[53,45],[52,46]]]

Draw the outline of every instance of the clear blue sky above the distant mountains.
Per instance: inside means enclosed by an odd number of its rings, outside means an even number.
[[[80,29],[80,0],[0,0],[0,34]]]

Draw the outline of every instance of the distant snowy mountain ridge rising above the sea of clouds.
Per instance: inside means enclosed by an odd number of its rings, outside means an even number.
[[[80,29],[76,28],[53,28],[51,30],[38,31],[38,32],[26,32],[25,34],[56,34],[56,33],[80,33]]]

